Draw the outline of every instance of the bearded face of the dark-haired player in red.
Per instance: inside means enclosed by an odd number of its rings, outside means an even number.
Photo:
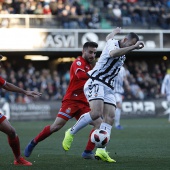
[[[88,63],[93,63],[96,57],[97,48],[88,47],[83,50],[83,57]]]

